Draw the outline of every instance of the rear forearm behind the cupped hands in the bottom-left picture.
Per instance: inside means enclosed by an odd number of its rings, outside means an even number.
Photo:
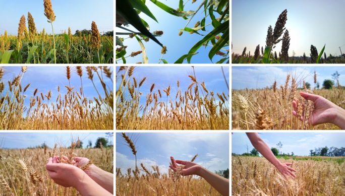
[[[113,194],[113,181],[114,175],[112,173],[106,172],[95,165],[90,165],[87,174],[100,186]]]

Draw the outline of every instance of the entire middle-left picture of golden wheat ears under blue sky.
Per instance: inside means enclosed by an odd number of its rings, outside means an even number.
[[[57,72],[51,73],[51,70]],[[42,74],[41,80],[35,74]],[[48,82],[44,75],[48,75]],[[62,79],[60,76],[64,75]],[[39,67],[32,70],[27,66],[3,67],[0,69],[0,127],[112,130],[112,77],[108,67]]]

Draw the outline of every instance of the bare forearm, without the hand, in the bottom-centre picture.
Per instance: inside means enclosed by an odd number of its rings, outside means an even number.
[[[200,167],[198,175],[204,178],[220,194],[229,195],[229,180],[228,179],[221,177],[203,167]]]

